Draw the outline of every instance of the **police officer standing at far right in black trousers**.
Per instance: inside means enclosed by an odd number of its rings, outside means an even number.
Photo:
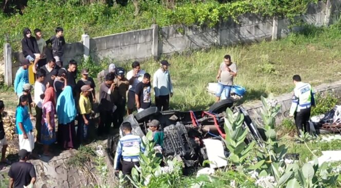
[[[299,75],[293,76],[295,89],[292,97],[290,108],[290,117],[295,118],[297,135],[300,135],[299,130],[304,133],[310,133],[310,110],[311,106],[315,106],[314,92],[310,84],[301,82]]]

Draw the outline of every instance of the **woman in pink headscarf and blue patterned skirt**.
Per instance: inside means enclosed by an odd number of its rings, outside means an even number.
[[[45,90],[45,97],[43,102],[43,118],[41,128],[41,142],[44,144],[43,155],[51,156],[49,152],[49,145],[53,144],[55,138],[55,102],[54,102],[54,90],[53,87],[49,87]]]

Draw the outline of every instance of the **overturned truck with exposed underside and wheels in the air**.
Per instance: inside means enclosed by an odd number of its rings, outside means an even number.
[[[258,129],[242,107],[233,107],[231,99],[224,99],[214,103],[208,111],[159,111],[156,107],[145,109],[138,114],[128,116],[124,122],[130,122],[132,134],[141,138],[147,133],[147,123],[157,119],[161,123],[164,132],[163,155],[165,157],[181,158],[187,168],[197,167],[204,160],[211,160],[211,156],[222,155],[228,157],[229,152],[224,145],[224,117],[226,108],[233,108],[244,114],[243,127],[248,128],[248,140],[261,140]],[[117,143],[120,134],[108,139],[107,153],[111,164],[113,164]],[[217,151],[219,148],[220,151]],[[214,152],[207,152],[214,151]],[[219,157],[218,157],[219,158]],[[221,159],[221,158],[219,158]],[[226,164],[218,165],[217,167]]]

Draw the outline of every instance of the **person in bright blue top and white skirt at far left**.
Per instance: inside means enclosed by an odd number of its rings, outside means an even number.
[[[27,152],[32,152],[34,149],[34,135],[27,104],[27,96],[21,96],[19,105],[15,111],[15,125],[19,137],[20,149],[26,149]]]

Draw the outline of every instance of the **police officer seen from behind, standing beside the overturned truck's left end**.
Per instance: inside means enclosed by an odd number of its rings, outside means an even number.
[[[131,134],[131,124],[129,122],[122,123],[122,131],[125,136],[121,138],[117,144],[115,162],[113,167],[116,171],[120,169],[120,160],[122,158],[122,173],[130,175],[131,169],[136,165],[139,166],[140,151],[144,152],[141,138]]]

